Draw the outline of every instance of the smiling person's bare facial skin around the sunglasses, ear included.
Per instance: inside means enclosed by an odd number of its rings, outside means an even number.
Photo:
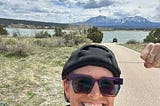
[[[95,79],[113,77],[113,74],[103,67],[84,66],[74,71],[74,74],[89,75]],[[98,83],[95,82],[90,93],[75,93],[71,81],[64,81],[64,90],[71,106],[113,106],[114,97],[103,96]]]

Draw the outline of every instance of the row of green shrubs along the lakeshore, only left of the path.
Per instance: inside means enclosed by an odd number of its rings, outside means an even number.
[[[61,27],[56,27],[54,29],[54,35],[49,34],[47,31],[40,31],[35,34],[35,38],[51,38],[51,37],[68,37],[68,38],[77,38],[77,35],[86,36],[94,43],[100,43],[103,39],[103,33],[98,29],[98,27],[90,27],[88,29],[79,30],[79,33],[76,31],[70,31],[69,33],[63,32]],[[0,25],[0,35],[8,35],[7,30]],[[14,32],[13,37],[21,36],[19,32]]]

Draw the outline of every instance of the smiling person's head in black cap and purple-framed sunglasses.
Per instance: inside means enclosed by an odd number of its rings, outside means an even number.
[[[64,95],[70,106],[114,106],[123,79],[116,58],[102,45],[74,51],[62,71]]]

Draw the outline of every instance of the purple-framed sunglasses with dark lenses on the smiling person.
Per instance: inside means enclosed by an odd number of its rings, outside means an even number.
[[[120,85],[123,84],[123,79],[118,77],[102,77],[100,79],[95,79],[88,75],[73,73],[69,75],[69,80],[72,81],[75,93],[89,94],[95,82],[98,82],[101,94],[103,96],[113,97],[118,94]]]

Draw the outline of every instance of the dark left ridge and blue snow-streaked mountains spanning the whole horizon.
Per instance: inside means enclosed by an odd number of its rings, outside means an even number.
[[[13,27],[24,27],[24,28],[54,28],[61,27],[67,28],[70,24],[65,23],[51,23],[51,22],[40,22],[40,21],[28,21],[28,20],[16,20],[16,19],[6,19],[0,18],[0,24],[4,26]],[[160,27],[160,23],[151,22],[146,18],[135,16],[135,17],[125,17],[121,19],[107,18],[106,16],[92,17],[84,22],[74,23],[75,25],[85,24],[97,27],[107,27],[107,28],[124,28],[124,29],[152,29]],[[73,23],[72,23],[73,25]]]

